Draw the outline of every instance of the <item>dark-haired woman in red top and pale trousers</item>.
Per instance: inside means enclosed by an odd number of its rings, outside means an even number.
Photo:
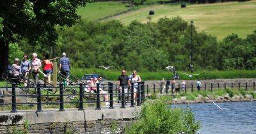
[[[43,70],[44,70],[44,86],[46,84],[49,86],[49,83],[51,83],[51,73],[53,70],[53,64],[51,61],[49,61],[49,55],[45,54],[44,61],[43,61]]]

